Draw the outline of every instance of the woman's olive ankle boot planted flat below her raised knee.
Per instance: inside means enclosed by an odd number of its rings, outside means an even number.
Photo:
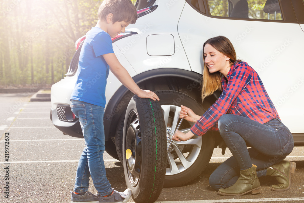
[[[247,170],[240,170],[240,177],[233,186],[219,189],[221,195],[241,196],[248,192],[251,194],[261,192],[260,181],[257,178],[257,166],[255,165]]]

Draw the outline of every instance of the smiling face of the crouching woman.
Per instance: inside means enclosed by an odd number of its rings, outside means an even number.
[[[210,73],[219,71],[224,74],[224,72],[227,72],[227,68],[230,68],[229,67],[230,58],[222,54],[221,52],[217,51],[210,44],[206,44],[204,47],[204,57],[205,57],[205,64],[209,69]]]

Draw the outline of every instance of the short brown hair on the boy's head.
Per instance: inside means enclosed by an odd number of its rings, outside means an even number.
[[[113,14],[112,23],[126,21],[134,24],[137,20],[136,7],[131,0],[104,0],[98,9],[98,19],[105,20]]]

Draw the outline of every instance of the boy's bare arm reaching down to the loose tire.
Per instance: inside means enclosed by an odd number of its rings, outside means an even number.
[[[119,63],[114,53],[103,54],[102,56],[109,65],[111,72],[116,76],[117,79],[119,79],[121,83],[123,83],[124,86],[126,86],[126,88],[130,89],[131,92],[140,98],[150,98],[154,101],[159,100],[158,96],[154,92],[151,92],[150,90],[142,90],[139,88],[126,68],[124,68]]]

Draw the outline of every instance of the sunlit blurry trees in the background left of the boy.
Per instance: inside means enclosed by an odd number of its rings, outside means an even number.
[[[102,0],[2,0],[0,85],[53,84],[67,73],[75,41],[98,20]]]

